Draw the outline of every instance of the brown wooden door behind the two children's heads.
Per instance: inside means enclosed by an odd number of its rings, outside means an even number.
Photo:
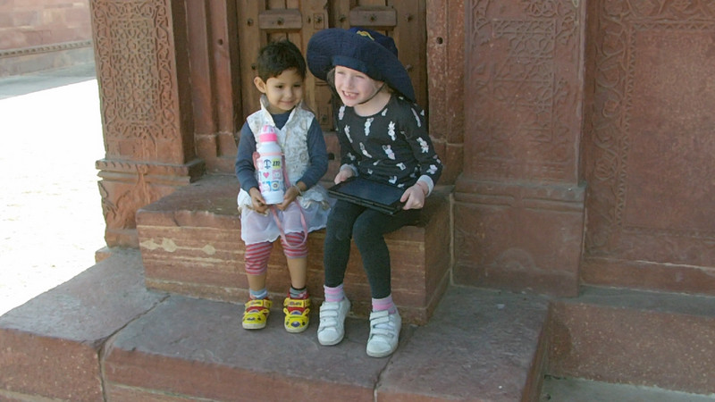
[[[305,54],[308,40],[326,28],[375,29],[394,38],[420,105],[427,107],[425,0],[239,0],[241,105],[243,117],[258,110],[252,84],[261,46],[288,39]],[[325,131],[333,128],[331,92],[308,74],[306,102]]]

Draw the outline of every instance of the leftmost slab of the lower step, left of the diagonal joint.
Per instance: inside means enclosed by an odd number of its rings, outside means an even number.
[[[117,251],[0,317],[0,389],[67,400],[102,398],[107,338],[158,303],[136,251]]]

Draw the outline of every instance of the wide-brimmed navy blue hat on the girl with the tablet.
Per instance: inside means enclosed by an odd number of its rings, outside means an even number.
[[[341,65],[384,81],[392,89],[416,101],[408,71],[397,58],[395,41],[379,32],[364,28],[331,28],[315,32],[307,43],[307,66],[320,80]]]

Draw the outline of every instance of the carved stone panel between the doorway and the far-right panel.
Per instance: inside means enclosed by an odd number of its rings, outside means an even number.
[[[470,176],[576,183],[583,93],[578,3],[468,4],[465,172]]]

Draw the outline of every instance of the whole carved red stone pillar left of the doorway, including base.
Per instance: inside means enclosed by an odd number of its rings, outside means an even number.
[[[93,0],[109,247],[138,247],[136,211],[204,170],[196,159],[181,0]]]

